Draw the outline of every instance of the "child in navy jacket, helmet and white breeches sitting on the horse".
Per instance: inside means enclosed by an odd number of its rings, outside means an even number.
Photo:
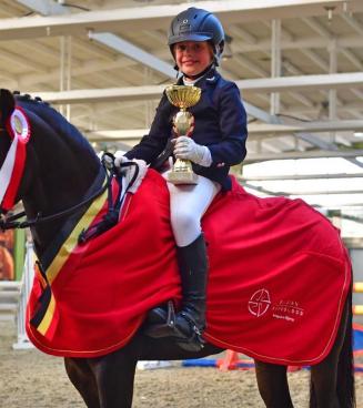
[[[174,185],[170,191],[171,225],[177,242],[181,274],[182,307],[175,325],[169,332],[158,328],[154,337],[174,336],[185,349],[202,347],[201,334],[205,328],[205,290],[208,258],[201,230],[201,217],[220,191],[231,188],[228,175],[231,165],[245,156],[246,114],[235,83],[224,80],[216,71],[224,45],[224,31],[211,12],[196,8],[178,14],[171,22],[168,44],[181,72],[178,84],[201,88],[201,100],[190,109],[195,128],[191,137],[173,134],[172,118],[178,112],[165,93],[157,109],[150,133],[115,164],[131,159],[152,163],[173,139],[173,155],[192,162],[199,175],[196,185]],[[167,312],[158,307],[150,320],[167,319]],[[161,326],[160,326],[161,327]]]

